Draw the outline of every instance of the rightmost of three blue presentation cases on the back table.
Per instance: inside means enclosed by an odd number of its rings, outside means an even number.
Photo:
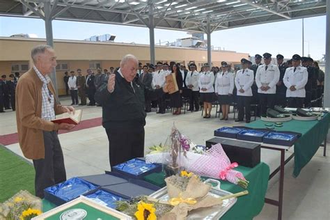
[[[279,146],[292,146],[294,142],[297,141],[298,139],[297,134],[285,134],[281,132],[269,132],[266,134],[262,142],[263,143],[270,143],[270,144],[275,144]]]

